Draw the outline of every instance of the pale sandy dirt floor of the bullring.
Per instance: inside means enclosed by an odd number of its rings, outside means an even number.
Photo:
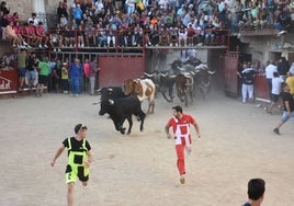
[[[202,138],[194,138],[186,184],[181,185],[174,142],[163,130],[179,100],[167,103],[158,96],[144,131],[134,122],[129,136],[99,116],[100,106],[92,105],[97,101],[87,94],[0,100],[0,205],[66,205],[67,153],[54,168],[49,163],[61,141],[74,135],[74,126],[83,123],[94,162],[89,186],[76,185],[77,206],[241,205],[251,178],[265,180],[264,206],[293,206],[294,127],[292,121],[281,128],[281,136],[272,133],[279,110],[269,115],[257,103],[242,104],[223,92],[184,107],[199,122]],[[194,129],[192,134],[195,137]]]

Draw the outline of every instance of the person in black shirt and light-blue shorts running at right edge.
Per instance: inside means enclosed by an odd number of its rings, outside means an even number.
[[[276,125],[276,127],[273,129],[273,133],[276,135],[281,135],[280,128],[281,126],[286,123],[290,118],[294,117],[294,100],[290,93],[290,87],[285,82],[282,83],[282,92],[281,98],[283,100],[283,116],[281,118],[281,122]]]

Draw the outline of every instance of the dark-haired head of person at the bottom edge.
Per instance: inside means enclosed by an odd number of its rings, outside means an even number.
[[[261,206],[264,197],[265,182],[262,179],[251,179],[248,182],[248,202],[242,206]]]

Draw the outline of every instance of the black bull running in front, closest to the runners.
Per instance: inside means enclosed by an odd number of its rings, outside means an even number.
[[[140,119],[140,131],[144,128],[144,119],[146,114],[140,108],[140,101],[137,96],[127,96],[122,99],[103,99],[101,100],[99,115],[108,113],[114,123],[115,129],[125,134],[123,124],[125,119],[128,122],[127,135],[131,134],[133,119],[132,115],[138,116]]]

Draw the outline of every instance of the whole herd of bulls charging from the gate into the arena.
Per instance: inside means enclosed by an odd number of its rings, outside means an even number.
[[[146,114],[140,105],[144,100],[148,100],[147,114],[154,113],[156,93],[160,92],[168,102],[172,102],[176,85],[179,99],[186,106],[189,98],[193,102],[196,89],[203,98],[206,96],[211,89],[211,76],[215,73],[207,68],[206,64],[192,59],[184,64],[174,60],[170,66],[170,69],[166,71],[145,72],[142,79],[127,79],[123,87],[106,87],[98,90],[101,95],[99,114],[108,113],[115,129],[121,134],[125,134],[126,128],[123,127],[123,124],[127,119],[127,134],[131,134],[133,115],[140,121],[140,131],[144,129]]]

